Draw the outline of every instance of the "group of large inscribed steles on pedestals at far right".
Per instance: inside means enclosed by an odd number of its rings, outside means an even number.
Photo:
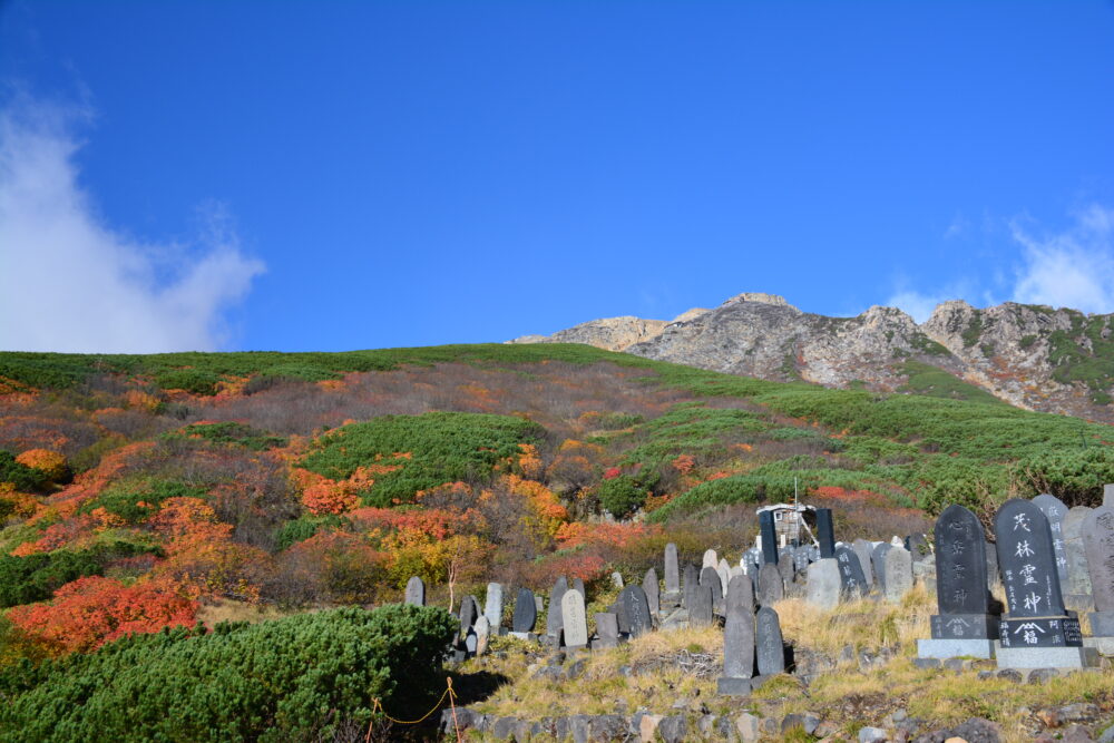
[[[1068,509],[1047,493],[1006,501],[993,548],[978,518],[958,505],[940,514],[935,537],[939,614],[931,638],[918,642],[920,658],[1083,668],[1114,654],[1114,486],[1098,508]],[[996,578],[1004,605],[991,592]],[[1088,615],[1087,637],[1079,612]]]

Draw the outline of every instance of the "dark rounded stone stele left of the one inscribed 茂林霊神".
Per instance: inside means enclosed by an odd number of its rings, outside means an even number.
[[[998,617],[987,589],[986,540],[978,517],[952,504],[936,520],[934,639],[997,639]]]

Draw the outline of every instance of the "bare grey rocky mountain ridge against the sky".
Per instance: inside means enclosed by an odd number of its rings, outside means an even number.
[[[856,317],[801,312],[740,294],[672,321],[612,317],[516,343],[588,343],[703,369],[827,387],[985,393],[1020,408],[1114,422],[1114,315],[1006,303],[945,302],[924,324],[895,307]]]

